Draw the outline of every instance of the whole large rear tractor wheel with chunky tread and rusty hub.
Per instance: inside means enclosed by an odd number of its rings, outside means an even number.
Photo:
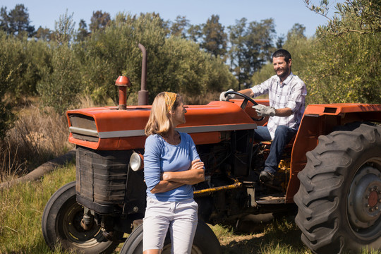
[[[381,248],[381,126],[320,136],[294,196],[301,239],[313,253]]]

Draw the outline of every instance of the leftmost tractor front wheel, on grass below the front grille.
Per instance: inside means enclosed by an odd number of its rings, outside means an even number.
[[[47,245],[79,253],[112,253],[119,243],[108,241],[100,226],[80,226],[83,207],[75,200],[75,181],[66,184],[49,199],[42,214],[42,234]]]

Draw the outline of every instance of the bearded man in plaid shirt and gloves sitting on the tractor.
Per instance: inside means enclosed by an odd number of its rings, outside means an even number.
[[[285,145],[298,131],[305,109],[306,85],[303,80],[291,72],[291,54],[285,49],[279,49],[272,54],[272,64],[276,75],[251,88],[238,92],[249,97],[269,95],[270,106],[258,104],[253,106],[258,116],[270,116],[267,126],[258,126],[255,130],[255,140],[272,140],[270,154],[265,162],[265,169],[260,172],[260,181],[269,182],[278,171]],[[233,91],[232,89],[226,91]],[[226,101],[236,98],[236,95],[225,95],[222,92],[219,100]]]

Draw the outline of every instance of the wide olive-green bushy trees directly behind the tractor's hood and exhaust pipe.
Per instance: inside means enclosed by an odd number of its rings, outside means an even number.
[[[136,95],[142,67],[138,42],[147,49],[150,102],[164,90],[194,97],[220,91],[223,85],[235,85],[234,76],[220,59],[201,51],[194,42],[167,37],[167,32],[167,23],[158,14],[119,13],[103,32],[95,32],[81,47],[75,47],[84,92],[95,102],[111,98],[117,103],[115,80],[119,75],[128,75],[133,84],[128,95]]]

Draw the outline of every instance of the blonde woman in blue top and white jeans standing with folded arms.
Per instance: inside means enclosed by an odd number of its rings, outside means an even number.
[[[185,113],[179,95],[161,92],[155,97],[145,126],[144,254],[161,253],[168,230],[171,253],[191,253],[198,224],[198,204],[193,200],[192,185],[204,181],[204,163],[191,136],[175,130],[186,122]]]

